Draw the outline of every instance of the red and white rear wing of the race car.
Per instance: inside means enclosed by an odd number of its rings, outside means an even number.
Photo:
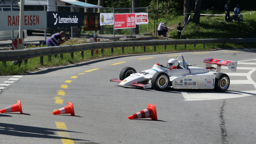
[[[203,62],[206,67],[212,67],[212,64],[216,64],[217,65],[216,73],[220,72],[221,66],[227,66],[229,70],[236,72],[237,61],[204,59]]]

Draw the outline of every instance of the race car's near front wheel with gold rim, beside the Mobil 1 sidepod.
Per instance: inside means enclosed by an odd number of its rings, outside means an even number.
[[[164,72],[157,72],[151,80],[151,85],[156,91],[164,91],[168,88],[170,82],[169,76]]]

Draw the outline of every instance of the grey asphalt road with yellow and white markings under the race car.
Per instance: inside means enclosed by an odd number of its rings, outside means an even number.
[[[44,68],[22,77],[1,76],[0,109],[20,100],[24,114],[0,114],[0,143],[255,144],[255,52],[244,48],[120,56]],[[236,73],[221,69],[231,80],[228,91],[159,92],[109,82],[124,67],[139,72],[156,63],[166,65],[179,54],[203,68],[206,58],[238,61]],[[112,65],[119,62],[124,63]],[[68,102],[74,104],[76,116],[52,115]],[[148,103],[156,106],[157,121],[127,118]]]

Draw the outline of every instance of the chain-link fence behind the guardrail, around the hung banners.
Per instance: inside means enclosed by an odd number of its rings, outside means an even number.
[[[19,4],[0,4],[1,11],[20,11]],[[146,12],[148,8],[87,8],[81,6],[66,5],[24,5],[24,11],[47,11],[47,12],[98,12],[98,13],[135,13]],[[114,29],[113,25],[100,26],[99,31],[84,31],[84,26],[62,26],[47,27],[46,29],[27,29],[24,30],[24,43],[34,43],[46,41],[52,34],[65,31],[67,36],[75,38],[109,38],[133,36],[148,33],[148,25],[136,25],[136,28]],[[19,30],[0,31],[0,44],[10,44],[13,38],[18,38]]]

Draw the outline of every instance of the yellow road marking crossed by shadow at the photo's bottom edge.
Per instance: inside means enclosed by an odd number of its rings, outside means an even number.
[[[66,124],[63,122],[55,122],[55,124],[58,129],[67,129]],[[73,140],[70,140],[71,137],[69,136],[68,132],[58,131],[58,134],[60,137],[63,137],[61,138],[63,144],[75,144]]]

